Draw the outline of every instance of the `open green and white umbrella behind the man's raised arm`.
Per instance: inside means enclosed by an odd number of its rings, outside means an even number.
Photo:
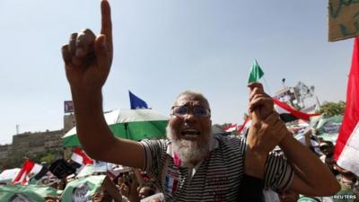
[[[110,130],[118,137],[140,141],[166,135],[168,118],[155,110],[112,110],[104,116]],[[62,140],[65,147],[81,146],[75,127],[68,131]]]

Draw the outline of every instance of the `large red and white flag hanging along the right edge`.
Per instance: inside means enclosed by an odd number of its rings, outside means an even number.
[[[346,89],[346,111],[334,150],[340,167],[359,176],[359,44],[355,37],[352,66]]]

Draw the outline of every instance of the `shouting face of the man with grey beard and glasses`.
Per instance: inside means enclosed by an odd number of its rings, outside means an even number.
[[[172,108],[167,136],[180,153],[182,162],[198,162],[209,151],[212,128],[209,106],[192,95],[180,96],[175,106],[185,108]]]

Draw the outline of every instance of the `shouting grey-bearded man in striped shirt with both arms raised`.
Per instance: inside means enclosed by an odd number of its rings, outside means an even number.
[[[248,85],[252,125],[246,139],[213,136],[209,102],[190,91],[180,93],[171,107],[168,139],[135,142],[113,136],[101,95],[113,57],[107,0],[101,1],[101,16],[99,36],[86,29],[62,47],[77,136],[93,159],[144,169],[156,178],[166,201],[237,201],[245,194],[240,189],[244,174],[275,190],[316,196],[337,192],[337,180],[288,132],[260,83]],[[270,153],[276,145],[286,158]]]

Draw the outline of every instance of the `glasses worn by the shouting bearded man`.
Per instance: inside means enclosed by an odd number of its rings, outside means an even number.
[[[184,116],[188,115],[189,113],[200,117],[200,118],[209,118],[211,117],[211,110],[202,107],[202,106],[173,106],[171,108],[171,115],[183,118]]]

